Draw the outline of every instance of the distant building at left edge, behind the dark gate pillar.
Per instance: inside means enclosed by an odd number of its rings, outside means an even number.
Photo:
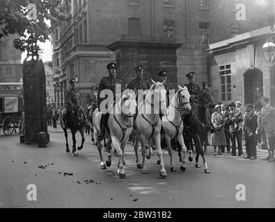
[[[0,94],[21,94],[21,51],[13,46],[14,35],[2,37],[0,43]],[[13,83],[13,84],[11,84]]]

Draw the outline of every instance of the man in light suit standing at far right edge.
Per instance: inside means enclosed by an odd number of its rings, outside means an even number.
[[[265,96],[260,99],[260,103],[262,105],[262,110],[260,112],[260,131],[265,130],[268,148],[268,156],[263,160],[273,162],[275,140],[275,109],[269,105],[269,99]]]

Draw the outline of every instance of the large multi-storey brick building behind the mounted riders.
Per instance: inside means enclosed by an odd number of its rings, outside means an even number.
[[[61,89],[56,101],[63,105],[68,80],[77,78],[85,103],[111,61],[125,85],[138,64],[147,78],[167,69],[173,87],[187,83],[189,71],[199,84],[210,82],[209,44],[266,26],[269,0],[261,1],[260,10],[258,1],[248,0],[71,1],[71,21],[52,24],[54,81]]]

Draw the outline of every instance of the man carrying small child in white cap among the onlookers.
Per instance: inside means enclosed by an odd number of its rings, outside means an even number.
[[[238,155],[242,156],[242,128],[236,128],[235,123],[238,125],[242,124],[244,121],[242,117],[242,112],[237,110],[235,103],[230,104],[230,114],[232,118],[230,119],[230,132],[232,132],[232,156],[236,156],[236,139],[238,145]],[[237,116],[237,117],[236,117]]]

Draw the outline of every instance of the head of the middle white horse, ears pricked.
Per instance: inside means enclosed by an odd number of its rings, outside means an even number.
[[[166,79],[162,83],[156,83],[152,80],[152,86],[150,88],[150,93],[154,96],[154,105],[159,107],[160,104],[160,112],[162,114],[166,114],[167,106],[166,106],[166,89],[164,85],[166,84]],[[148,95],[150,94],[148,93]]]

